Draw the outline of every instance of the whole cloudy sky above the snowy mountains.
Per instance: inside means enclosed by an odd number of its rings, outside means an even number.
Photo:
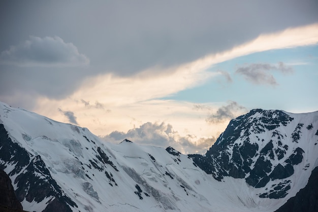
[[[251,109],[318,110],[318,2],[1,1],[0,101],[204,154]]]

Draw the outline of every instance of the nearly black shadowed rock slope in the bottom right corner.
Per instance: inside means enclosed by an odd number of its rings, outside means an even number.
[[[318,211],[318,167],[311,172],[305,188],[290,198],[275,212],[316,212]]]

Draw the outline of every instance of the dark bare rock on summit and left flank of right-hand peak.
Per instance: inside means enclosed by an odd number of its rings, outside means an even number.
[[[255,116],[257,113],[260,113],[260,116]],[[206,157],[199,155],[189,155],[189,157],[192,157],[194,162],[206,173],[212,174],[216,180],[221,180],[224,176],[245,178],[251,172],[246,179],[248,184],[253,186],[266,185],[269,179],[264,177],[271,171],[271,164],[269,160],[262,159],[261,156],[268,156],[270,159],[275,158],[272,140],[266,144],[260,151],[260,155],[257,156],[259,146],[257,143],[251,142],[248,136],[251,132],[259,134],[266,130],[276,129],[281,125],[287,126],[292,120],[292,117],[282,111],[251,110],[249,113],[230,121],[226,130],[207,151]],[[279,139],[283,137],[278,131],[274,131],[272,136]],[[233,145],[233,141],[238,138],[245,138],[245,140],[241,145]],[[265,142],[264,139],[262,142]],[[232,157],[230,158],[229,149],[231,147],[233,149],[231,150]],[[284,151],[278,150],[280,158],[283,158],[284,153]],[[252,164],[251,158],[260,158],[260,161],[255,164],[256,168],[253,171],[250,168]],[[265,167],[257,167],[261,165],[262,160],[264,162],[267,161],[262,164]]]

